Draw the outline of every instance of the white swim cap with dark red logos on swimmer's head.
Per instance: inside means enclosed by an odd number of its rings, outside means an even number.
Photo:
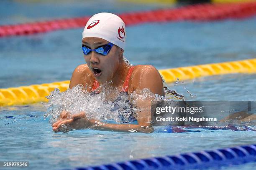
[[[123,20],[112,13],[98,13],[87,22],[82,37],[97,37],[107,40],[124,50],[126,32]]]

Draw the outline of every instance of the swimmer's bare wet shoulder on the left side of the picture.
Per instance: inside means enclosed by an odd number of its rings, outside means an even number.
[[[77,85],[85,86],[87,84],[92,84],[93,81],[94,79],[92,77],[92,72],[90,71],[87,64],[81,64],[74,69],[69,83],[69,88],[75,87]]]

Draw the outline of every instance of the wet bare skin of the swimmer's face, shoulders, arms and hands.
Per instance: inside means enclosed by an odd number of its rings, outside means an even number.
[[[96,49],[109,42],[96,37],[86,37],[82,43],[91,49]],[[113,87],[121,87],[125,81],[130,65],[127,65],[123,60],[123,49],[113,45],[108,55],[101,55],[95,51],[91,51],[88,55],[84,55],[87,64],[79,65],[73,72],[69,88],[76,85],[83,85],[88,92],[92,91],[92,86],[95,79],[101,83],[112,81]],[[100,69],[97,73],[95,69]],[[97,70],[99,71],[99,70]],[[163,82],[159,72],[151,65],[136,65],[129,81],[128,93],[135,90],[142,90],[144,88],[150,89],[154,94],[164,95]],[[136,107],[149,108],[151,107],[151,100],[136,100]],[[93,127],[97,130],[114,130],[129,132],[133,129],[140,132],[150,133],[152,131],[151,112],[141,109],[137,113],[138,125],[132,124],[103,124],[100,121],[90,119],[88,120],[85,112],[80,112],[70,116],[69,112],[63,111],[60,119],[55,122],[53,130],[55,132],[61,131],[61,125],[68,125],[70,129],[83,129]],[[147,128],[145,128],[147,127]]]

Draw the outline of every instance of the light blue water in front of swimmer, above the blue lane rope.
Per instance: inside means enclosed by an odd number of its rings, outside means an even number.
[[[204,129],[199,133],[53,133],[41,104],[2,107],[0,112],[1,159],[27,160],[30,169],[57,170],[218,149],[252,144],[256,138],[255,131]]]

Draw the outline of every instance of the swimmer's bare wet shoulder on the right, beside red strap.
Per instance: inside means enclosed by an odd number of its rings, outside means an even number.
[[[136,65],[131,80],[133,91],[149,88],[154,94],[164,95],[161,75],[153,65]]]

